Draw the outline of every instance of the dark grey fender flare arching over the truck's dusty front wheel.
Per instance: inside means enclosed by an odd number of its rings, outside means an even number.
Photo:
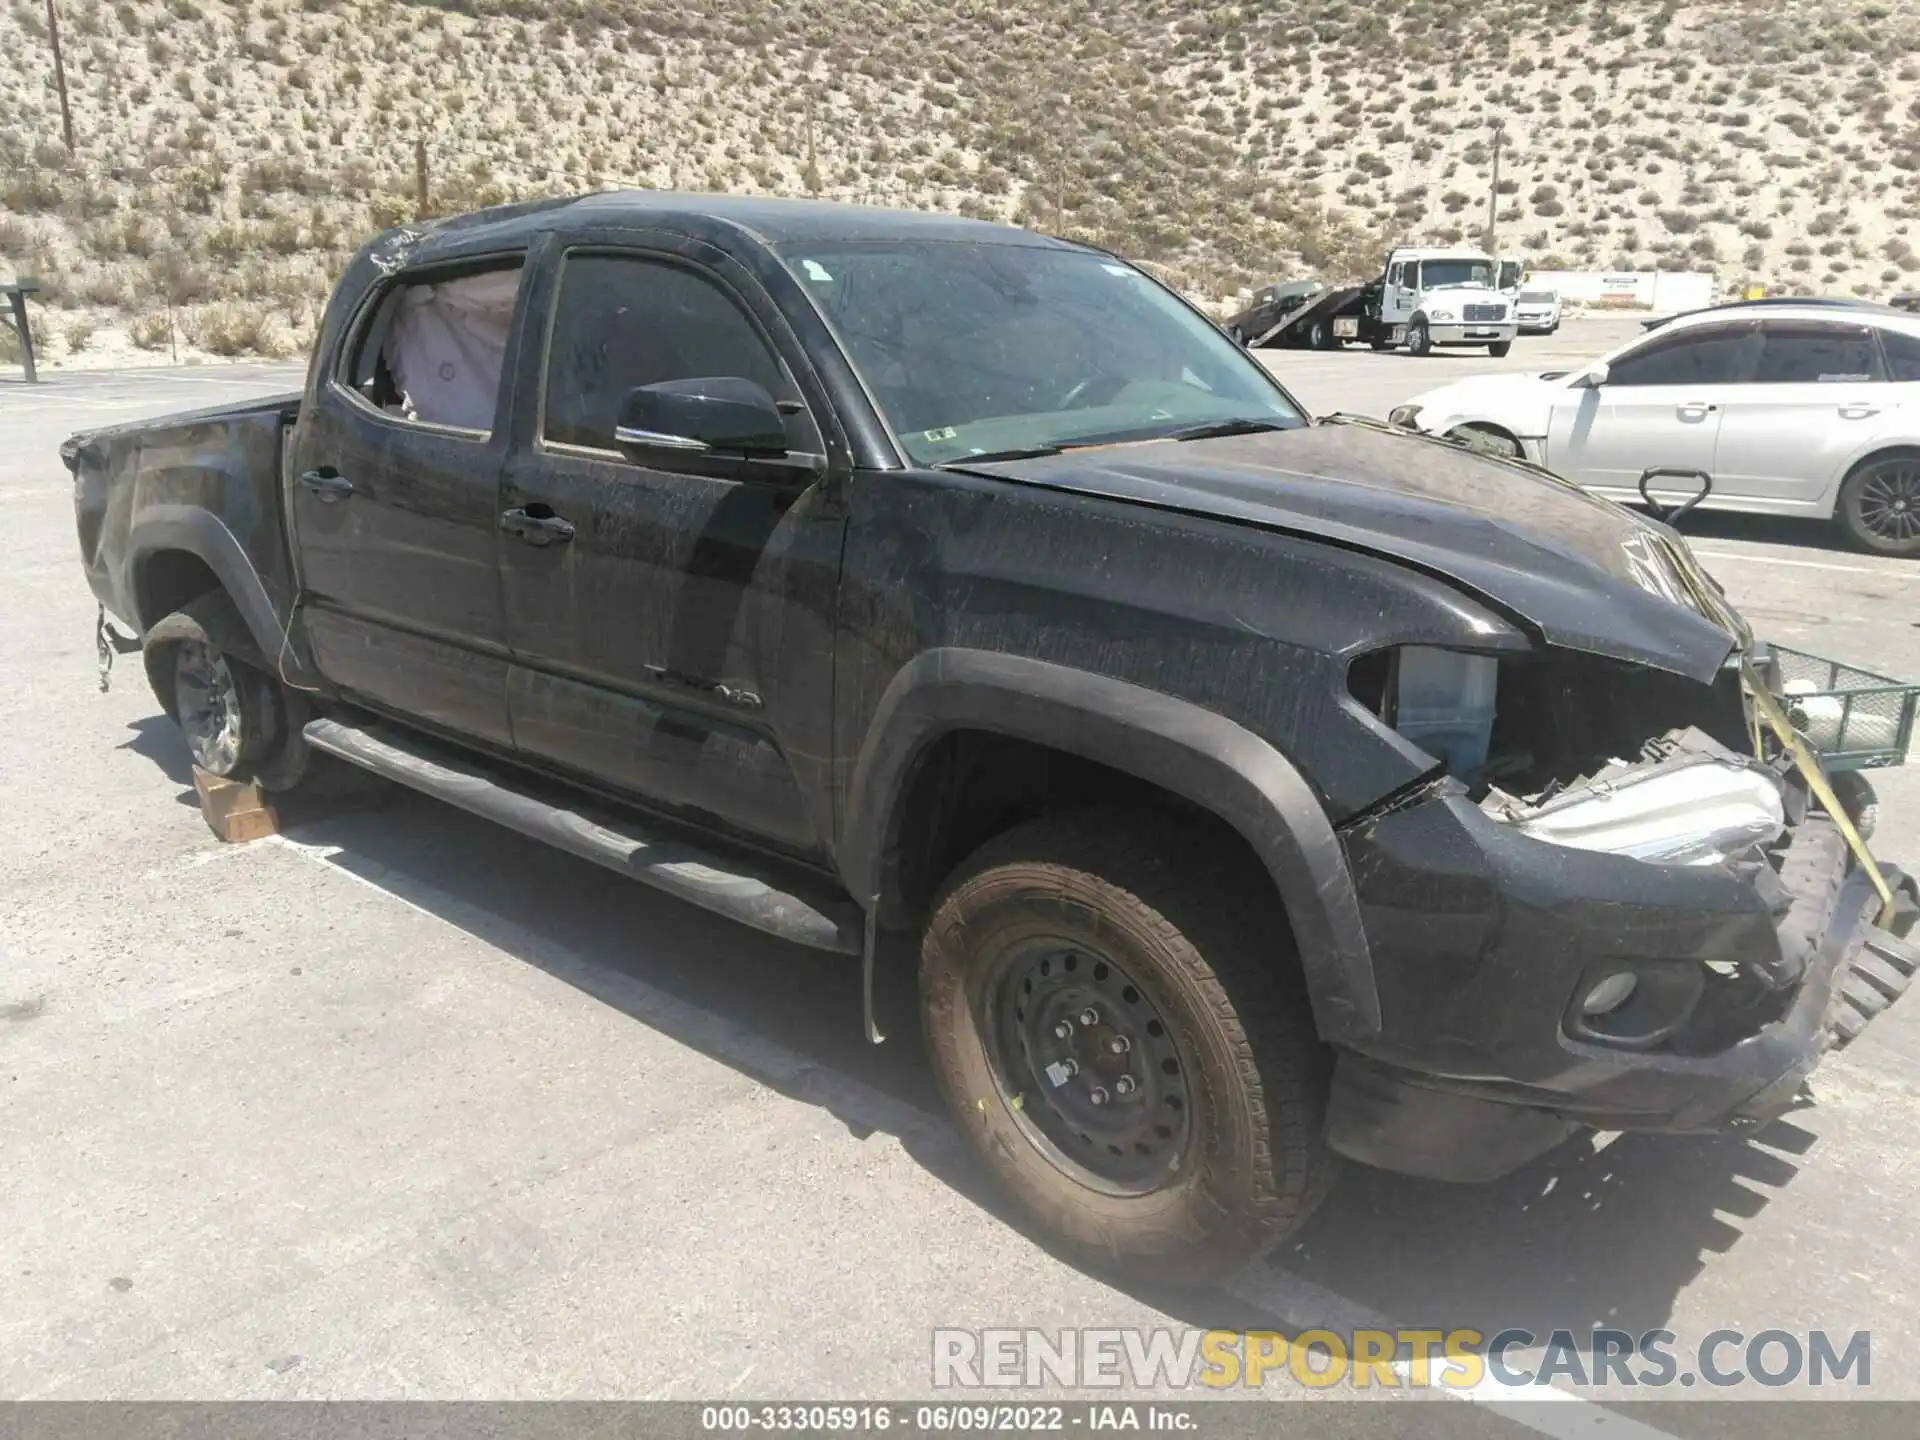
[[[854,764],[839,845],[862,902],[887,891],[899,803],[939,735],[983,730],[1154,783],[1233,826],[1281,893],[1325,1041],[1380,1031],[1380,995],[1346,852],[1313,789],[1273,745],[1162,691],[973,649],[931,649],[881,695]]]

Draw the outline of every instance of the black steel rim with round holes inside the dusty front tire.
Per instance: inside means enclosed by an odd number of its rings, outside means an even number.
[[[1110,956],[1058,937],[1014,947],[985,1021],[1008,1110],[1058,1169],[1114,1196],[1152,1194],[1188,1169],[1192,1062]]]

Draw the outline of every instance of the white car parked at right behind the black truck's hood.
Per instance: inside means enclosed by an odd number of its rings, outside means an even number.
[[[1705,472],[1703,509],[1832,518],[1862,549],[1920,557],[1920,315],[1887,305],[1695,311],[1574,371],[1428,390],[1392,420],[1609,499],[1640,501],[1649,468]]]

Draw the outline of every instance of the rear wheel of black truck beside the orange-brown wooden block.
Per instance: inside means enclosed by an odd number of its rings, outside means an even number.
[[[180,726],[194,764],[227,780],[257,780],[267,789],[298,785],[311,751],[292,724],[288,697],[273,678],[253,634],[225,591],[182,605],[146,632],[142,662],[167,716]],[[202,693],[186,676],[211,678]],[[182,684],[194,685],[190,699]],[[209,739],[207,695],[225,714],[219,743]],[[305,710],[300,708],[298,716]]]

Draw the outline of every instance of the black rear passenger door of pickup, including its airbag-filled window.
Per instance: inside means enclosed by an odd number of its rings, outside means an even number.
[[[509,747],[499,472],[524,255],[401,271],[301,415],[288,495],[315,660],[353,699]]]

